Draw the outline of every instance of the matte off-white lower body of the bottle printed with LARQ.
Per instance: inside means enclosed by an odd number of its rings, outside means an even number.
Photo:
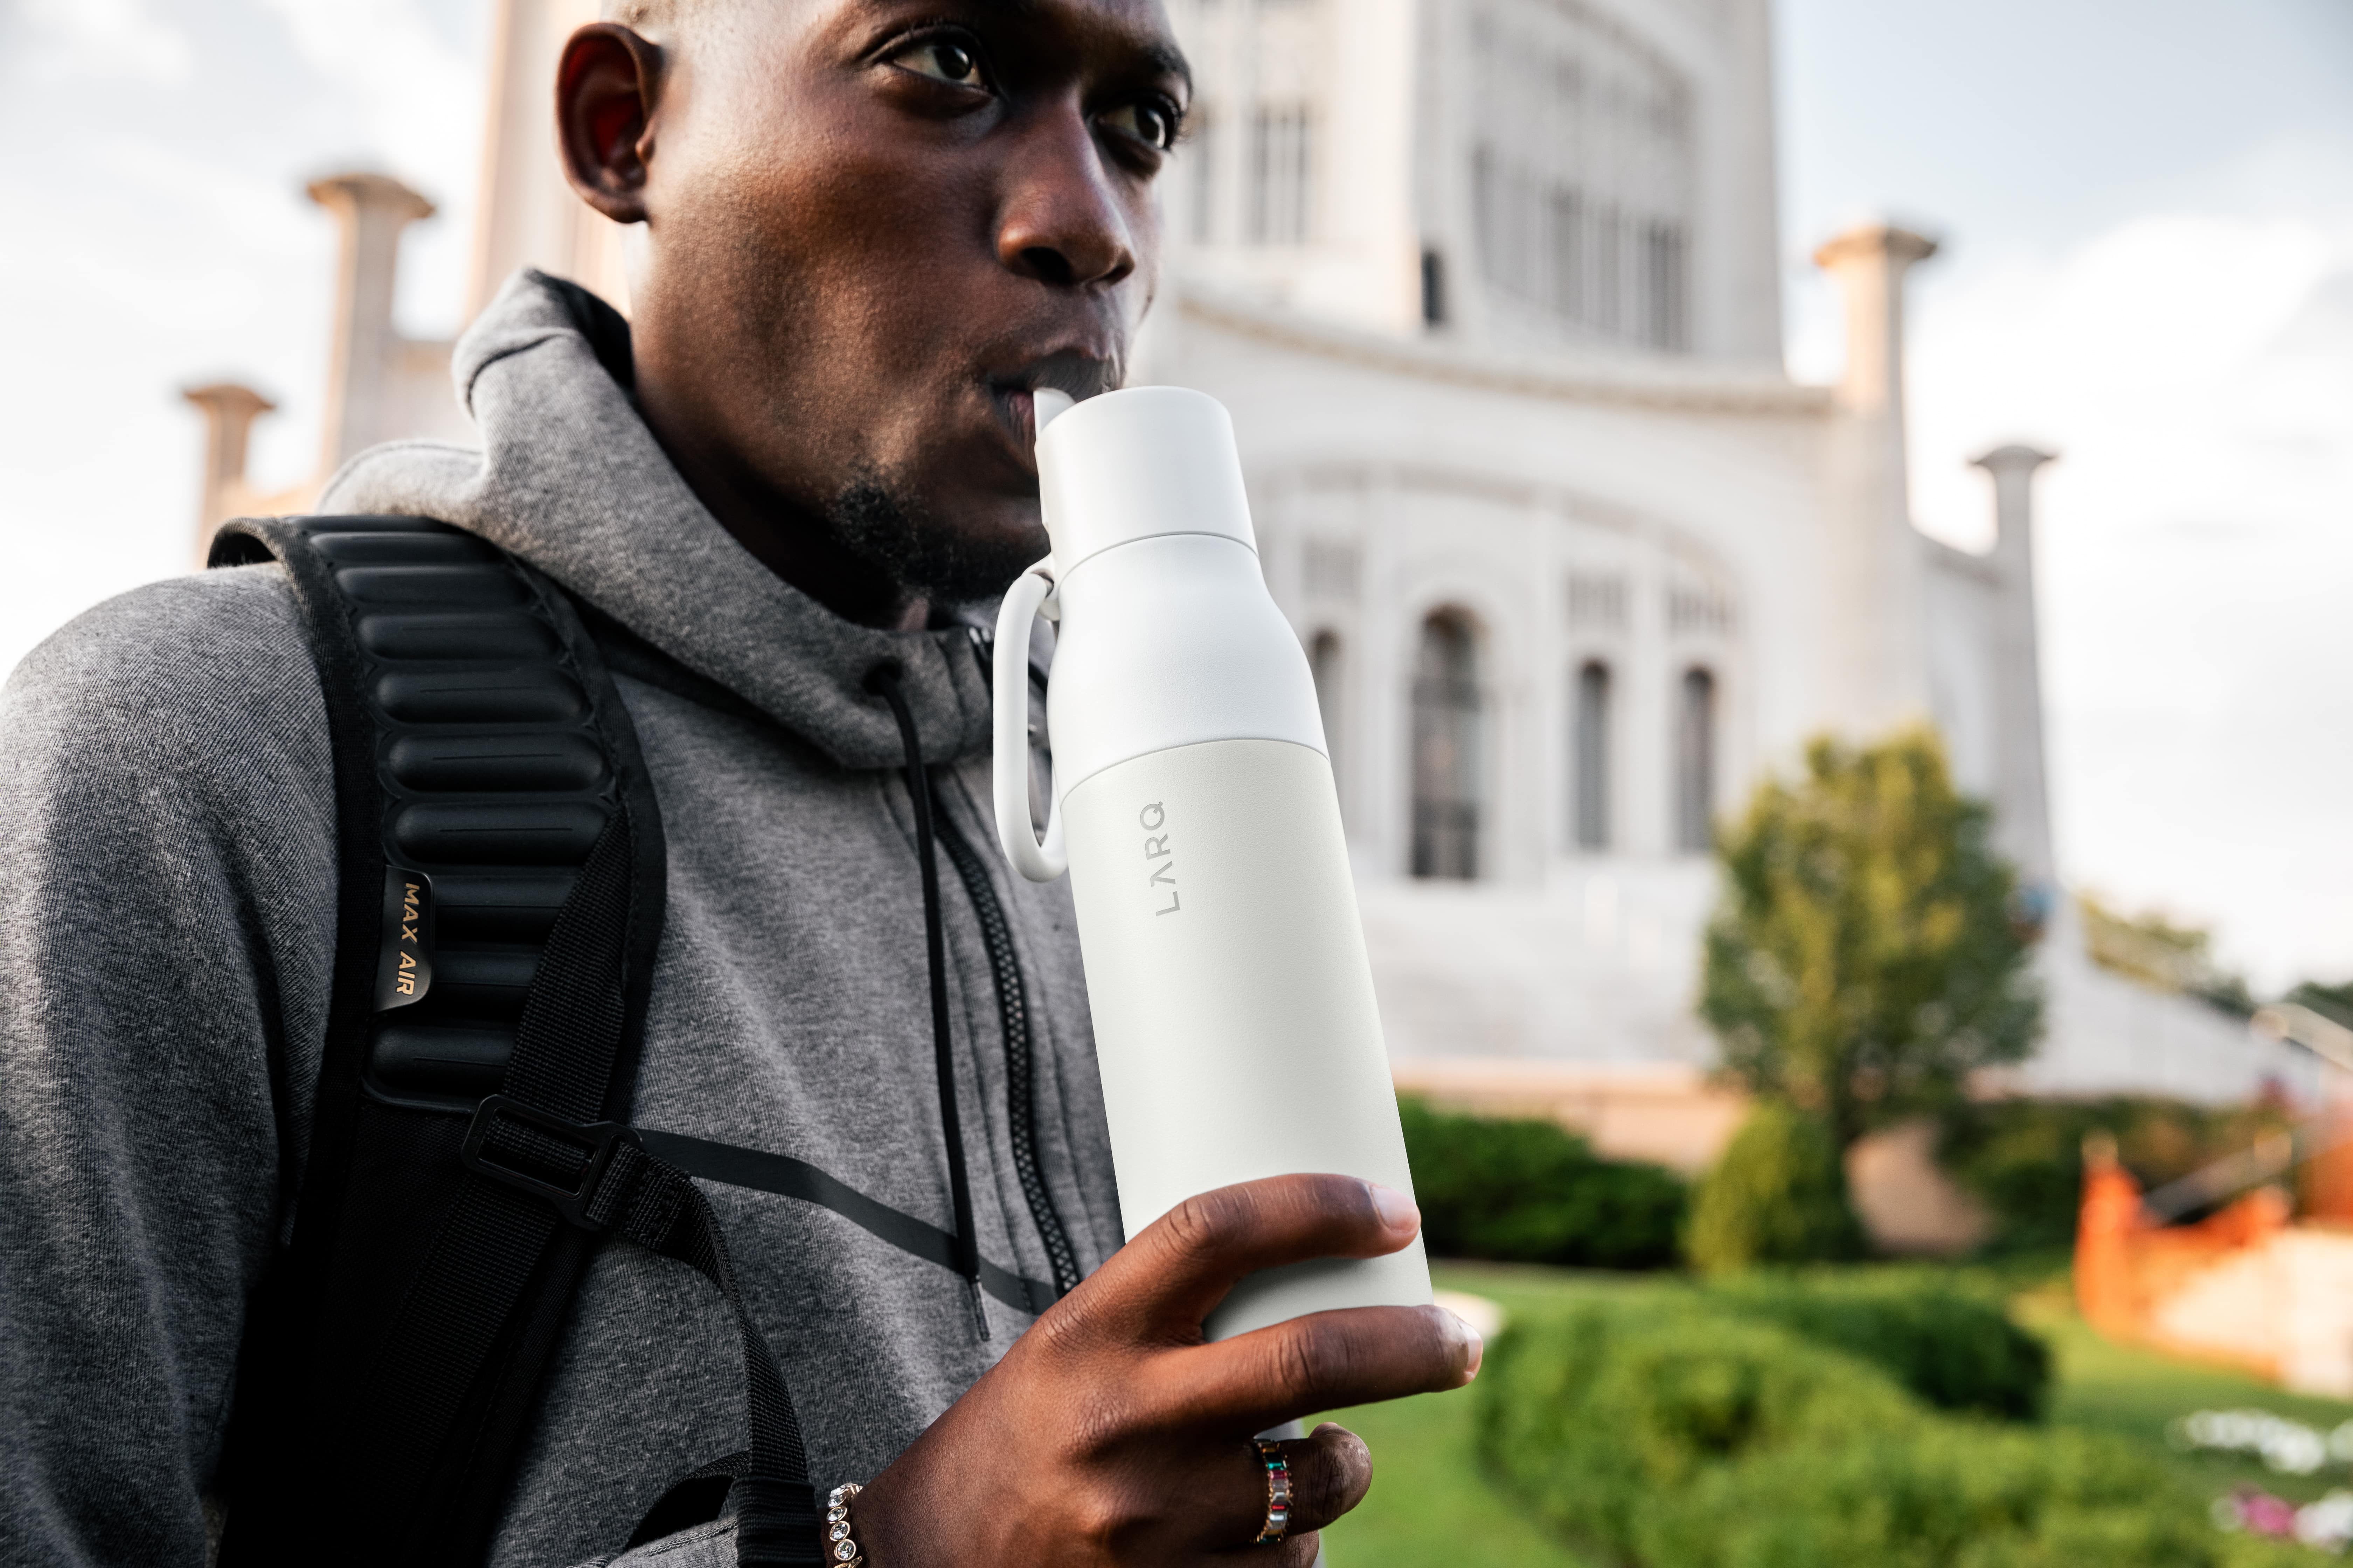
[[[1261,1175],[1337,1171],[1412,1192],[1332,764],[1209,741],[1104,769],[1064,799],[1120,1215]],[[1257,1274],[1209,1319],[1424,1305],[1417,1239]]]

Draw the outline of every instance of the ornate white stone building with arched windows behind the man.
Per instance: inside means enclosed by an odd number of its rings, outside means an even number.
[[[2224,1100],[2297,1072],[2082,959],[2042,783],[2047,456],[1981,458],[1991,555],[1908,512],[1904,275],[1934,244],[1824,244],[1847,369],[1784,369],[1765,0],[1172,7],[1200,92],[1136,378],[1233,409],[1325,693],[1400,1081],[1701,1164],[1737,1110],[1692,1016],[1708,825],[1807,736],[1915,717],[2054,910],[2021,1086]],[[591,12],[501,5],[475,303],[532,261],[626,306],[616,230],[562,188],[544,122]],[[456,414],[414,390],[447,346],[391,327],[424,202],[372,176],[315,195],[346,233],[325,473]],[[242,489],[259,400],[193,397],[207,522],[304,503]]]

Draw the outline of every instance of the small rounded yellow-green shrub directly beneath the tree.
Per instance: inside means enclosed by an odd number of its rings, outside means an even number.
[[[1711,1274],[1760,1262],[1840,1262],[1864,1255],[1847,1204],[1847,1168],[1821,1119],[1760,1100],[1699,1182],[1685,1251]]]

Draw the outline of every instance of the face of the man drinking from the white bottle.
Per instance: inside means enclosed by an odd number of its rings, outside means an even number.
[[[642,158],[649,418],[913,590],[1000,590],[1045,552],[1031,388],[1115,388],[1153,296],[1188,94],[1160,2],[699,0],[666,31],[635,132],[565,110]]]

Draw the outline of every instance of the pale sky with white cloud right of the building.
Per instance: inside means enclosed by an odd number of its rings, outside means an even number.
[[[2061,877],[2353,976],[2353,5],[1786,0],[1788,357],[1814,242],[1913,273],[1913,512],[1984,548],[2024,440]]]

